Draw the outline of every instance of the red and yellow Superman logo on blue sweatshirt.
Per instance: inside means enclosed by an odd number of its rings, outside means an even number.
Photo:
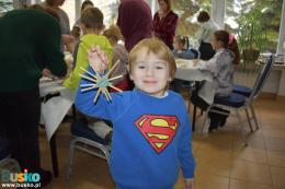
[[[135,125],[157,153],[171,143],[179,128],[175,116],[144,115]]]

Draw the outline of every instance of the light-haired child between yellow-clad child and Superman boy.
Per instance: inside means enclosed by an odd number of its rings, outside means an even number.
[[[127,74],[128,74],[128,72],[127,72],[128,52],[122,44],[118,44],[118,40],[121,40],[123,38],[123,35],[122,35],[118,26],[111,25],[107,29],[104,31],[103,35],[107,37],[110,44],[113,46],[112,66],[117,60],[119,60],[119,64],[111,73],[111,76],[112,75],[124,75],[124,78],[115,80],[113,82],[113,84],[123,91],[130,90],[129,80],[127,76]]]

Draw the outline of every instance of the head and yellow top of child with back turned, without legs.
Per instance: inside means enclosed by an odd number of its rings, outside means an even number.
[[[80,73],[84,71],[81,67],[88,68],[87,51],[92,46],[99,46],[107,54],[107,59],[112,60],[113,48],[105,36],[100,35],[104,28],[103,13],[98,8],[87,8],[81,14],[81,27],[83,36],[76,47],[73,55],[73,71],[64,82],[64,86],[76,91],[80,82]]]

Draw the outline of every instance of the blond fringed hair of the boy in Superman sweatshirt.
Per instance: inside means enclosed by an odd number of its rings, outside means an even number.
[[[138,51],[142,48],[147,48],[147,54],[155,54],[159,59],[164,60],[169,64],[169,75],[171,79],[174,78],[176,72],[176,63],[172,51],[169,47],[158,38],[146,38],[140,40],[129,52],[129,74],[134,71],[134,64],[137,60]]]

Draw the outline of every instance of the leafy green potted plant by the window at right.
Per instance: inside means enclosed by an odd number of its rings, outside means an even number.
[[[259,10],[244,13],[239,19],[238,42],[244,61],[255,61],[264,47],[266,35],[261,19]]]

